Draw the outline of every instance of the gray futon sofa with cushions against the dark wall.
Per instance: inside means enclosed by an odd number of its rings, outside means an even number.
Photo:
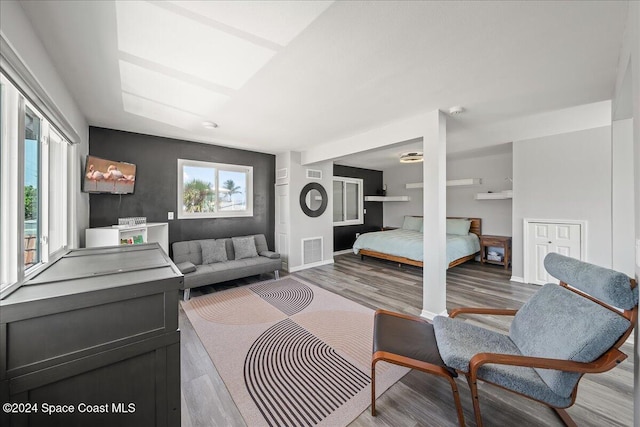
[[[184,274],[185,301],[191,288],[269,272],[278,279],[282,268],[280,254],[269,250],[264,234],[174,242],[172,249]]]

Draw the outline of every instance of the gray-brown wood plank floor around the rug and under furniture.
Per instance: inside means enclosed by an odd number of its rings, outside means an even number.
[[[511,272],[500,266],[468,262],[447,272],[447,309],[461,306],[519,308],[538,286],[510,282]],[[335,264],[303,270],[294,275],[372,309],[410,314],[422,311],[422,269],[346,254]],[[252,277],[223,287],[194,289],[192,297],[231,286],[266,280]],[[469,317],[484,327],[506,332],[502,316]],[[246,425],[189,319],[180,309],[182,330],[182,425]],[[633,346],[622,351],[629,358],[604,374],[587,375],[580,382],[576,403],[568,412],[579,426],[633,425]],[[469,387],[458,378],[467,425],[475,425]],[[562,426],[546,406],[497,387],[481,383],[480,406],[486,426]],[[434,375],[411,371],[376,402],[377,417],[363,412],[352,426],[456,426],[457,418],[448,384]]]

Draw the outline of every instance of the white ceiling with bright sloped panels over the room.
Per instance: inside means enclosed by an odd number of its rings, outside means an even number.
[[[453,105],[466,111],[448,120],[448,147],[472,147],[475,127],[611,99],[628,9],[626,1],[21,5],[89,125],[267,153]]]

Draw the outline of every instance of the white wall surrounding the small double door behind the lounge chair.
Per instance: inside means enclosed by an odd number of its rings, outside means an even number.
[[[513,276],[523,219],[587,222],[586,261],[611,266],[611,126],[513,143]]]

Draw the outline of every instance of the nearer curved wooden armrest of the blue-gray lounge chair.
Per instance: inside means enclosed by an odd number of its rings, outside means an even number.
[[[593,362],[575,362],[572,360],[519,356],[515,354],[478,353],[469,361],[469,374],[471,380],[475,381],[478,369],[482,365],[489,363],[594,374],[608,371],[626,358],[627,355],[617,348],[607,350]]]

